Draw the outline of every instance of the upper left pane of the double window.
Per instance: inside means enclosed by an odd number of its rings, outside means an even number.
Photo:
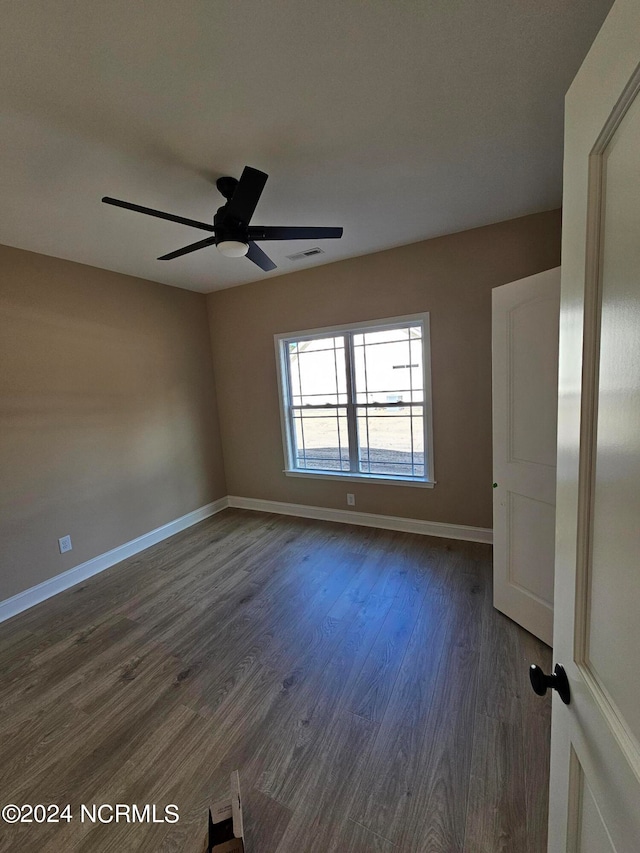
[[[294,406],[347,402],[344,338],[289,343],[289,375]]]

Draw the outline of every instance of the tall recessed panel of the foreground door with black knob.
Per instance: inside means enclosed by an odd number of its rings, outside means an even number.
[[[640,755],[640,98],[603,154],[597,427],[585,663]],[[607,630],[608,626],[616,630]],[[640,761],[638,762],[640,767]]]

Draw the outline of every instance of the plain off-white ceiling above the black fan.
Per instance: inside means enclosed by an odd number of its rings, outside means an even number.
[[[208,292],[561,203],[563,97],[611,0],[4,0],[0,242]],[[210,222],[270,176],[278,269],[100,203]],[[325,254],[286,255],[319,245]]]

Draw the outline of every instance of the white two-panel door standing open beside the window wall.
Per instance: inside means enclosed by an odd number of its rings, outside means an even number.
[[[493,603],[553,636],[560,268],[492,292]]]

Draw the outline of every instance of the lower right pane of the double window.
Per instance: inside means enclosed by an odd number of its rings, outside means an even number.
[[[358,437],[363,474],[424,476],[422,406],[359,408]]]

